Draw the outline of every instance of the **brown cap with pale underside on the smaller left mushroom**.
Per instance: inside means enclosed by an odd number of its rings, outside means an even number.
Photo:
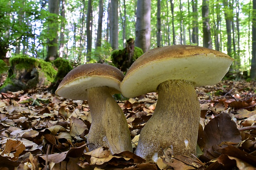
[[[123,73],[114,66],[99,63],[80,65],[71,70],[59,84],[55,94],[67,99],[87,100],[87,89],[109,87],[111,94],[120,93]]]

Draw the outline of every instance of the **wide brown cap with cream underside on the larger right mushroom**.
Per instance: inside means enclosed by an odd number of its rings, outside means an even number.
[[[194,87],[214,85],[228,72],[233,59],[220,51],[200,46],[154,48],[140,56],[121,82],[123,96],[156,92],[166,80],[189,80]]]

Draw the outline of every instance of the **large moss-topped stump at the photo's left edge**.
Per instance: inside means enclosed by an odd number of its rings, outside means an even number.
[[[7,79],[0,92],[26,90],[41,85],[50,85],[57,71],[52,64],[27,55],[15,55],[10,58]]]

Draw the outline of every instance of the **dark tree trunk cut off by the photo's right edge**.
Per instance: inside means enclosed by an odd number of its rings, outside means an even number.
[[[256,0],[252,1],[253,3],[253,12],[252,12],[252,28],[251,28],[251,37],[252,37],[252,57],[251,57],[251,79],[256,78]]]

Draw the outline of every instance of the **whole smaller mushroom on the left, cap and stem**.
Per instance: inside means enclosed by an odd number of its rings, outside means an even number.
[[[71,70],[56,94],[67,99],[88,100],[92,124],[89,150],[109,147],[112,154],[130,151],[132,145],[126,117],[112,94],[120,93],[123,73],[107,64],[83,64]]]

